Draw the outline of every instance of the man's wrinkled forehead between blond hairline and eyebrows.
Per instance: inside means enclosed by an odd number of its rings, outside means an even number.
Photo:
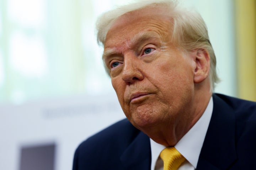
[[[172,26],[171,18],[164,8],[143,8],[119,17],[106,35],[105,48],[120,42],[129,42],[146,34],[166,37]],[[169,34],[170,35],[170,34]]]

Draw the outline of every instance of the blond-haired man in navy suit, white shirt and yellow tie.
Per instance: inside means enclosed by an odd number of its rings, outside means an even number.
[[[97,26],[127,119],[81,143],[73,170],[160,170],[165,148],[184,158],[178,170],[256,169],[256,104],[213,94],[215,55],[197,13],[143,1]]]

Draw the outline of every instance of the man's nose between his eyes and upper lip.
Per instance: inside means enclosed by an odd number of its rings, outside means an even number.
[[[140,71],[140,61],[137,57],[125,56],[122,70],[122,79],[127,85],[143,80],[143,73]]]

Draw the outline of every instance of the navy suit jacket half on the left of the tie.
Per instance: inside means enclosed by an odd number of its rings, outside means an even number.
[[[73,170],[148,170],[150,162],[149,137],[124,119],[82,142]]]

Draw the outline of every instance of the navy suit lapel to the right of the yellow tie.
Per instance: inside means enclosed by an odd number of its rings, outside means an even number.
[[[234,110],[213,95],[213,114],[199,155],[197,170],[227,169],[236,160]]]

